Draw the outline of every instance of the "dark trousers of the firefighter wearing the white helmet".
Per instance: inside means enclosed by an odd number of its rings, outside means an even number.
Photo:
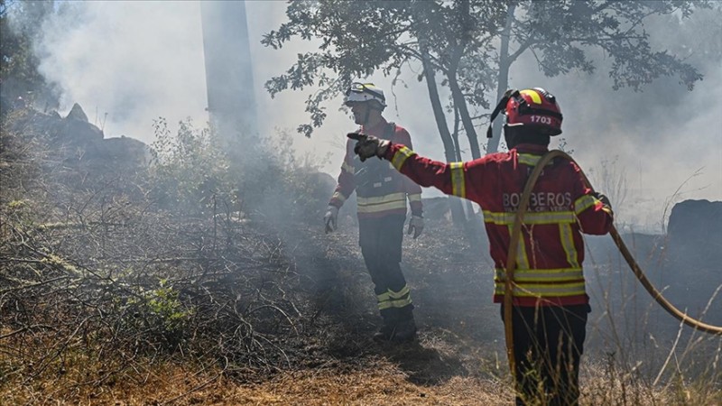
[[[401,270],[405,216],[359,218],[358,245],[374,282],[378,309],[385,324],[408,320],[412,298]]]

